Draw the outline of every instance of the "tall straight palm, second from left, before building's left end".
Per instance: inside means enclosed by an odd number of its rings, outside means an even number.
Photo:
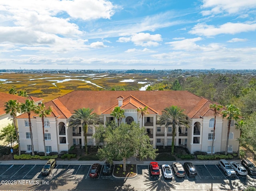
[[[29,125],[29,131],[30,131],[31,150],[32,150],[32,156],[34,156],[35,153],[34,153],[33,134],[32,134],[32,125],[31,125],[30,114],[32,111],[34,111],[36,109],[36,105],[34,104],[33,100],[27,99],[25,101],[25,103],[21,104],[20,108],[23,113],[28,114],[28,125]]]

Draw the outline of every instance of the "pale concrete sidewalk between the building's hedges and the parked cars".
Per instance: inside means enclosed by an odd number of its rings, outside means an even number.
[[[45,164],[47,160],[9,160],[9,161],[0,161],[0,164]],[[240,160],[228,160],[236,161],[241,163]],[[149,165],[151,161],[140,161],[135,157],[131,157],[127,160],[128,164],[137,164],[137,165]],[[184,162],[192,162],[193,164],[218,164],[218,160],[178,160],[178,161],[157,161],[160,164],[172,164],[173,162],[179,162],[184,164]],[[92,165],[93,163],[104,164],[105,161],[78,161],[78,160],[56,160],[57,164],[67,165]],[[114,164],[122,164],[123,161],[114,161]]]

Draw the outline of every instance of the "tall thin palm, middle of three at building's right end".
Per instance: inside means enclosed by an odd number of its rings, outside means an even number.
[[[227,133],[227,142],[226,142],[226,149],[225,149],[225,155],[228,154],[228,140],[229,140],[229,132],[230,132],[230,125],[231,120],[237,120],[240,116],[239,108],[237,108],[235,105],[230,104],[226,106],[226,110],[222,111],[223,118],[226,117],[228,120],[228,133]]]

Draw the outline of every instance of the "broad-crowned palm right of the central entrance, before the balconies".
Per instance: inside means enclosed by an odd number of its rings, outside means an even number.
[[[181,109],[178,106],[170,106],[166,107],[160,116],[160,123],[165,123],[166,128],[168,128],[169,125],[172,125],[172,154],[174,154],[174,137],[176,125],[179,127],[182,125],[189,127],[188,120],[186,120],[185,114],[183,112],[184,109]]]

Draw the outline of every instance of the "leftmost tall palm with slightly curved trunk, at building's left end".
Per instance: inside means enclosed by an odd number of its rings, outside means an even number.
[[[5,103],[5,112],[6,114],[10,113],[13,120],[13,125],[15,128],[16,136],[17,136],[17,142],[18,142],[18,148],[19,148],[19,155],[20,155],[20,138],[19,138],[19,131],[18,127],[16,126],[15,118],[17,116],[17,113],[20,112],[20,104],[17,100],[9,100]]]

